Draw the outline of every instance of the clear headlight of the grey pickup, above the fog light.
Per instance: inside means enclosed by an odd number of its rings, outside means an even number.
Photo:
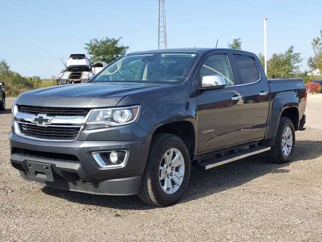
[[[137,118],[138,113],[139,106],[94,109],[87,120],[85,130],[131,124]]]

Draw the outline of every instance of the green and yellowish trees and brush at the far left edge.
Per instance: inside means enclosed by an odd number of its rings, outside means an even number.
[[[7,97],[16,97],[28,90],[56,85],[55,77],[50,79],[41,79],[38,76],[22,77],[19,73],[11,71],[5,60],[0,62],[0,81],[6,83]]]

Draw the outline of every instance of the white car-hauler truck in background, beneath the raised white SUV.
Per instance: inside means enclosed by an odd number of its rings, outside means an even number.
[[[106,62],[92,62],[89,71],[66,71],[61,72],[56,78],[58,85],[75,84],[87,82],[93,75],[99,73],[107,66]]]

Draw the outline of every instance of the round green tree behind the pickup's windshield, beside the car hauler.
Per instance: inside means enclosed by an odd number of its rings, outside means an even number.
[[[129,46],[120,45],[120,40],[104,37],[101,40],[94,38],[90,40],[90,43],[85,43],[85,49],[91,55],[91,59],[94,62],[106,62],[111,63],[119,56],[126,53]]]

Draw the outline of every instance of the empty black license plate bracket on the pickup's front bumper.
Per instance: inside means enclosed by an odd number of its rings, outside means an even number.
[[[27,161],[29,174],[32,178],[46,181],[54,181],[54,175],[50,164]]]

